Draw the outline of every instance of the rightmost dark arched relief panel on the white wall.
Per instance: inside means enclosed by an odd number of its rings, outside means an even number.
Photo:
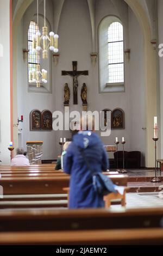
[[[111,129],[124,129],[124,111],[121,108],[111,113]]]

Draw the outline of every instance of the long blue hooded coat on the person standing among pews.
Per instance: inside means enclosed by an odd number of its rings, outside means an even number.
[[[64,171],[70,178],[70,209],[102,208],[103,197],[99,196],[92,185],[92,175],[87,168],[80,149],[95,172],[102,172],[109,168],[108,157],[103,143],[94,132],[83,131],[73,136],[64,158]]]

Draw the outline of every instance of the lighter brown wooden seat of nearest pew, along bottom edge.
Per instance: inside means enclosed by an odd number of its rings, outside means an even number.
[[[0,233],[0,245],[162,245],[163,229]],[[105,250],[105,248],[103,248]],[[103,251],[104,252],[104,251]]]

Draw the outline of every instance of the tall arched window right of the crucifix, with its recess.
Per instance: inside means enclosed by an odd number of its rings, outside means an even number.
[[[115,16],[99,25],[100,92],[124,92],[123,26]]]

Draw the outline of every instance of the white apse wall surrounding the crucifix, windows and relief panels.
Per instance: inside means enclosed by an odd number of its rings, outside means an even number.
[[[47,2],[48,3],[48,2]],[[50,6],[51,2],[49,2]],[[51,21],[51,8],[47,10],[47,17]],[[42,139],[44,143],[43,158],[52,159],[56,157],[60,148],[58,145],[59,137],[71,137],[69,131],[53,132],[31,132],[29,131],[29,113],[34,108],[40,110],[48,108],[52,112],[60,110],[64,112],[64,84],[67,82],[71,90],[70,111],[82,111],[82,101],[80,90],[82,84],[87,85],[88,110],[101,111],[104,108],[114,109],[120,107],[125,112],[125,130],[113,130],[110,137],[103,137],[105,144],[113,144],[115,137],[126,138],[126,150],[140,150],[145,153],[145,132],[141,127],[145,126],[145,95],[144,95],[144,72],[143,72],[143,38],[142,32],[133,12],[129,9],[129,15],[124,3],[122,8],[116,10],[111,1],[96,1],[96,39],[98,38],[99,22],[106,15],[116,15],[123,18],[123,23],[129,23],[125,31],[126,40],[131,50],[130,60],[126,59],[126,84],[124,93],[105,93],[99,94],[98,83],[98,60],[96,66],[91,64],[91,23],[86,0],[67,0],[61,12],[59,22],[59,63],[52,66],[53,82],[52,94],[28,93],[27,85],[27,64],[23,63],[22,47],[23,39],[18,47],[18,112],[24,114],[26,123],[23,123],[22,142],[23,147],[26,140]],[[125,10],[125,11],[124,11]],[[49,13],[48,13],[49,11]],[[34,14],[34,10],[33,10]],[[31,13],[30,13],[31,15]],[[26,18],[26,19],[25,19]],[[29,13],[26,13],[23,23],[30,21]],[[24,26],[21,25],[22,27]],[[19,36],[22,36],[23,29],[19,28]],[[97,40],[98,42],[98,40]],[[97,49],[98,52],[98,44]],[[72,61],[77,60],[78,70],[89,70],[89,76],[78,78],[78,105],[73,105],[72,78],[61,76],[61,70],[72,70]],[[22,78],[20,78],[22,77]],[[26,99],[24,101],[24,99]],[[54,146],[55,145],[55,146]]]

